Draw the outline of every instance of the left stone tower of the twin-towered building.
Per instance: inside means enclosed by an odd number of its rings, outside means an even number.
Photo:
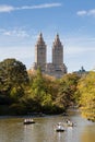
[[[43,34],[39,34],[38,40],[35,45],[35,63],[36,67],[40,67],[41,71],[45,71],[46,67],[46,44],[43,38]]]

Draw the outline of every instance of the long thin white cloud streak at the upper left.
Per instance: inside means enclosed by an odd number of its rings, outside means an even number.
[[[23,7],[0,5],[0,13],[12,12],[16,10],[49,9],[56,7],[61,7],[61,3],[45,3],[38,5],[23,5]]]

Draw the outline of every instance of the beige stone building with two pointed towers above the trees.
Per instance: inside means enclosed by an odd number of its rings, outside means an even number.
[[[67,73],[67,67],[63,63],[63,46],[57,34],[52,44],[52,62],[47,62],[47,46],[44,42],[43,34],[39,34],[37,43],[35,45],[35,62],[33,70],[37,68],[41,69],[41,72],[51,76],[61,78]]]

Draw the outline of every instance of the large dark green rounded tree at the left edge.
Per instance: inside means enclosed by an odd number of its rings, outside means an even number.
[[[19,98],[23,95],[27,83],[27,71],[21,61],[5,59],[0,62],[0,94]]]

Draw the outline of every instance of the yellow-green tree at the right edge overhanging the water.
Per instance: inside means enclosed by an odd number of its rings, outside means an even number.
[[[95,121],[95,72],[90,72],[79,82],[82,116]]]

